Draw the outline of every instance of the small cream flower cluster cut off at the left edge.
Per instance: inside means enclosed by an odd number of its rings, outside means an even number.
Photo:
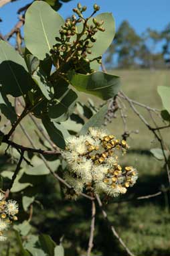
[[[0,192],[0,241],[6,241],[4,231],[9,229],[12,220],[17,220],[18,204],[15,200],[5,200],[5,194]]]

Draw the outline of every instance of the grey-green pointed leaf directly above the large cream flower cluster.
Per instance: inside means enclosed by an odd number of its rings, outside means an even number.
[[[88,132],[89,127],[101,127],[104,123],[104,117],[106,115],[108,108],[107,105],[104,105],[98,113],[93,115],[88,122],[85,123],[85,125],[82,127],[80,134],[85,134]]]

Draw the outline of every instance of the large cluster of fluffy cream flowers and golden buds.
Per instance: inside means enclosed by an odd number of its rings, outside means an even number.
[[[135,168],[122,170],[118,164],[117,151],[124,154],[128,148],[126,141],[95,127],[90,127],[87,135],[69,137],[62,153],[68,163],[64,178],[74,192],[67,190],[66,196],[75,199],[84,189],[108,196],[126,193],[138,178]]]

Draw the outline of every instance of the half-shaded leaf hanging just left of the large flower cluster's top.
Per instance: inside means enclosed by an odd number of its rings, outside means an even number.
[[[64,149],[66,147],[65,139],[70,136],[68,131],[63,125],[59,125],[53,121],[50,121],[48,117],[42,119],[42,123],[50,136],[50,139],[60,148]]]

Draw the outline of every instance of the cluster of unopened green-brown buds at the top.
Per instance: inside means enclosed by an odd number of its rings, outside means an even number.
[[[68,60],[72,60],[75,66],[78,66],[82,61],[86,63],[93,61],[88,59],[88,54],[92,54],[91,48],[96,42],[95,34],[98,31],[105,31],[102,27],[104,21],[97,21],[96,18],[93,18],[90,25],[88,23],[89,19],[99,11],[100,7],[95,4],[92,15],[84,18],[83,13],[86,8],[86,6],[82,7],[78,3],[77,8],[73,9],[76,15],[74,14],[71,18],[66,19],[66,23],[60,29],[60,37],[56,37],[57,44],[54,45],[51,53],[56,56],[57,68],[60,68],[62,62],[68,62]],[[101,56],[94,60],[101,63]]]

